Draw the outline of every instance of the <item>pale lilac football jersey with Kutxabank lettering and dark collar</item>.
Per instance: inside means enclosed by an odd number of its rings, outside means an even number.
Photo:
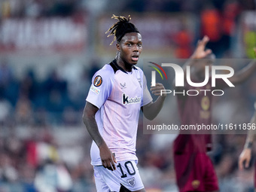
[[[99,108],[96,113],[99,133],[117,161],[137,160],[139,111],[151,101],[145,75],[136,66],[132,72],[125,72],[113,60],[93,76],[87,102]],[[102,165],[95,142],[90,155],[93,166]]]

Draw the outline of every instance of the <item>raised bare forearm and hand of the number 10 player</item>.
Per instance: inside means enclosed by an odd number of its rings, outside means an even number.
[[[157,83],[156,86],[151,86],[151,92],[158,96],[155,102],[149,102],[147,105],[142,106],[144,116],[148,120],[153,120],[159,114],[163,107],[163,102],[166,99],[166,93],[162,93],[161,90],[165,90],[163,84]]]

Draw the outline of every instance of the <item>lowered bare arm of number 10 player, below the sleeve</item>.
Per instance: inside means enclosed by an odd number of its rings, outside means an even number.
[[[116,169],[114,163],[117,162],[115,160],[114,154],[112,154],[104,139],[99,133],[99,129],[95,120],[95,114],[98,110],[99,108],[97,108],[95,105],[87,102],[84,107],[83,121],[85,126],[87,127],[88,133],[92,137],[93,141],[96,142],[96,145],[99,148],[102,166],[113,171]]]

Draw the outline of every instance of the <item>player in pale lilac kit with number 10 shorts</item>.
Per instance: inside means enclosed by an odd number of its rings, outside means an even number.
[[[151,87],[158,96],[152,102],[142,69],[136,66],[142,52],[142,35],[130,16],[108,29],[117,40],[115,59],[93,76],[83,120],[93,139],[90,156],[96,190],[145,191],[136,166],[136,134],[139,111],[152,120],[163,106],[163,84]],[[109,36],[108,35],[108,36]],[[112,43],[114,42],[112,41]],[[111,43],[111,44],[112,44]]]

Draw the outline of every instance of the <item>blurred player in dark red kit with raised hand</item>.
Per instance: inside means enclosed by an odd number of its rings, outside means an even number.
[[[211,67],[215,56],[212,50],[205,49],[209,38],[205,36],[199,41],[197,47],[190,58],[190,62],[184,65],[190,66],[190,79],[194,83],[205,80],[205,67]],[[239,84],[250,77],[256,70],[256,63],[251,62],[241,71],[237,72],[228,80],[232,84]],[[178,112],[181,118],[181,125],[210,125],[212,123],[212,90],[221,90],[227,84],[221,79],[216,79],[216,87],[212,87],[212,78],[209,77],[208,83],[203,87],[192,87],[184,84],[184,87],[175,89],[181,90],[211,90],[200,91],[197,96],[184,96],[176,94],[178,99]],[[194,134],[181,132],[174,141],[174,163],[176,180],[179,191],[218,191],[218,178],[215,169],[206,154],[211,149],[211,135]]]

